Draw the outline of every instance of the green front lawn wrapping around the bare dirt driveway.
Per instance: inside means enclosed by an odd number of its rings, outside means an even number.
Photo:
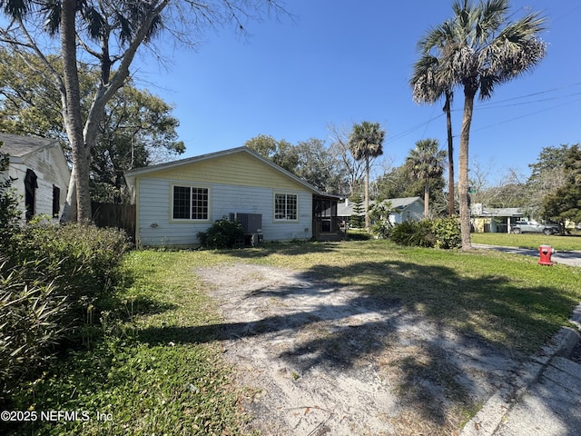
[[[567,325],[581,300],[581,269],[542,267],[535,258],[492,251],[402,248],[386,241],[136,251],[126,259],[133,280],[120,290],[118,307],[95,320],[105,340],[25,386],[16,408],[88,411],[91,420],[37,422],[34,434],[246,434],[238,400],[248,392],[232,387],[231,368],[213,340],[220,317],[193,272],[226,263],[281,266],[350,285],[526,353]]]

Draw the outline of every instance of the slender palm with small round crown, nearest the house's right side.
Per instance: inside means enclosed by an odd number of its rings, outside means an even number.
[[[369,160],[383,154],[385,131],[379,123],[364,121],[354,124],[349,137],[349,148],[356,161],[365,160],[365,228],[369,229]]]

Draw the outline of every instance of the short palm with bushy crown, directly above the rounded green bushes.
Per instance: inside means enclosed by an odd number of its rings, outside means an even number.
[[[422,139],[406,159],[411,176],[424,182],[424,218],[428,218],[429,213],[429,181],[444,173],[446,152],[438,148],[437,139]]]

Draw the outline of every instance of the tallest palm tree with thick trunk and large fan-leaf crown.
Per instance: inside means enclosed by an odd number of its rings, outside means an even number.
[[[457,0],[452,9],[453,17],[430,32],[425,51],[436,53],[441,62],[438,83],[458,85],[464,91],[458,196],[462,249],[469,250],[468,143],[474,98],[478,91],[480,99],[490,98],[497,84],[530,71],[545,57],[547,46],[538,39],[545,18],[533,13],[509,22],[508,0],[478,4]]]

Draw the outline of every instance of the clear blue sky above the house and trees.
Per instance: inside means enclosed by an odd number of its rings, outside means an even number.
[[[500,85],[477,102],[470,161],[498,183],[508,169],[527,176],[543,147],[581,142],[581,3],[512,0],[547,16],[547,58],[532,73]],[[251,23],[250,36],[231,29],[205,35],[197,51],[165,53],[167,69],[143,56],[137,84],[175,106],[190,157],[243,145],[258,134],[291,144],[319,138],[328,125],[379,122],[385,158],[403,163],[420,139],[445,148],[442,104],[418,105],[408,85],[416,44],[451,15],[451,0],[292,0],[295,19]],[[171,47],[171,45],[167,45]],[[463,94],[453,105],[456,163]]]

